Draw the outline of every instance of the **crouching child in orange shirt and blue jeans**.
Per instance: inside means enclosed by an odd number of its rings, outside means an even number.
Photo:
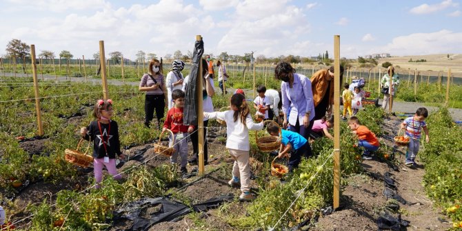
[[[379,140],[374,132],[371,132],[365,125],[361,125],[358,117],[354,116],[348,119],[348,126],[358,136],[358,146],[364,148],[363,159],[372,159],[370,152],[375,152],[380,147]]]

